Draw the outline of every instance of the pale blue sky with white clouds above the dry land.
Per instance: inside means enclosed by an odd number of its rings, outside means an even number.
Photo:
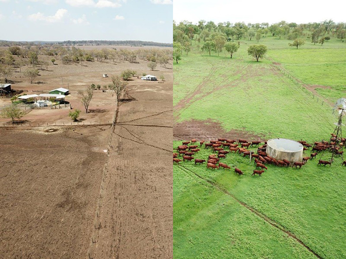
[[[0,39],[173,41],[172,0],[0,0]]]

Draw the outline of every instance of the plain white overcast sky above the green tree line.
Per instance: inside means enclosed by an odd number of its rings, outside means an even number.
[[[173,19],[197,23],[308,23],[333,19],[346,22],[345,0],[174,0]]]

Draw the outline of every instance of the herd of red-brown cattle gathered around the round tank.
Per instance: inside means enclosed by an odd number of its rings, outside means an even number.
[[[292,163],[292,167],[302,168],[302,166],[305,165],[305,163],[309,159],[313,159],[314,157],[316,157],[318,152],[327,150],[327,149],[334,152],[336,155],[342,155],[343,154],[342,147],[345,145],[346,139],[337,139],[334,134],[331,134],[331,135],[332,137],[329,142],[321,141],[321,142],[315,142],[313,145],[310,145],[306,143],[305,141],[299,141],[299,143],[303,145],[304,150],[311,148],[311,154],[310,156],[303,157],[302,162]],[[219,138],[217,140],[211,140],[209,143],[205,143],[205,141],[200,141],[199,145],[196,143],[197,141],[195,139],[191,141],[183,141],[182,145],[177,147],[177,152],[173,153],[173,163],[178,164],[181,161],[195,160],[195,164],[203,164],[206,162],[207,168],[219,169],[220,167],[222,167],[223,169],[231,169],[231,167],[228,166],[227,164],[220,162],[220,159],[226,158],[226,155],[228,153],[234,152],[234,153],[239,153],[243,157],[251,156],[251,158],[254,158],[256,169],[253,171],[253,174],[252,174],[253,176],[257,174],[261,176],[262,173],[264,172],[264,169],[267,170],[267,167],[265,166],[265,164],[273,164],[276,166],[286,166],[286,167],[289,167],[291,165],[290,161],[286,159],[277,160],[274,157],[269,156],[265,152],[266,145],[267,145],[266,142],[264,142],[264,144],[261,145],[260,141],[248,142],[242,139],[239,139],[238,141],[236,141],[236,140],[227,140],[227,139]],[[254,146],[258,147],[257,152],[247,149]],[[213,154],[210,154],[208,158],[206,159],[197,159],[197,158],[195,159],[192,155],[200,151],[201,150],[200,148],[203,148],[203,147],[207,149],[210,148],[213,151]],[[332,162],[333,160],[330,160],[330,161],[318,160],[318,165],[331,165]],[[346,166],[346,161],[343,162],[343,165]],[[234,168],[234,172],[237,173],[238,175],[244,174],[239,168],[236,168],[236,167]]]

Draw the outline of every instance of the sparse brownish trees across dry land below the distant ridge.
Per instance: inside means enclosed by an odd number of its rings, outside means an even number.
[[[57,60],[64,65],[80,64],[81,66],[93,61],[138,63],[139,60],[142,60],[148,61],[148,67],[154,70],[158,64],[166,68],[172,59],[171,48],[85,50],[74,46],[66,48],[57,45],[10,46],[0,50],[0,77],[7,83],[14,70],[18,69],[33,83],[39,75],[38,68],[48,71],[49,66],[56,65]],[[22,71],[23,68],[25,68],[24,71]]]

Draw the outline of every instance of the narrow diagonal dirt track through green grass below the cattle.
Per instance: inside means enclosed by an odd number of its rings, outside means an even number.
[[[183,165],[179,165],[180,168],[183,168],[183,171],[185,173],[192,173],[194,174],[196,177],[198,177],[199,179],[207,182],[208,184],[212,185],[213,187],[215,187],[217,190],[223,192],[224,194],[232,197],[236,202],[238,202],[240,205],[242,205],[244,208],[248,209],[249,211],[251,211],[252,213],[254,213],[257,217],[261,218],[262,220],[264,220],[265,222],[269,223],[270,225],[272,225],[273,227],[281,230],[282,232],[285,232],[288,236],[292,237],[293,239],[295,239],[299,244],[301,244],[304,248],[306,248],[310,253],[312,253],[316,258],[322,259],[321,256],[319,256],[316,252],[314,252],[311,248],[309,248],[302,240],[300,240],[295,234],[293,234],[292,232],[290,232],[289,230],[285,229],[285,227],[283,225],[281,225],[280,223],[270,219],[268,216],[266,216],[265,214],[259,212],[258,210],[256,210],[255,208],[249,206],[248,204],[246,204],[245,202],[239,200],[237,197],[235,197],[232,193],[230,193],[228,190],[226,190],[224,187],[218,185],[217,183],[210,181],[208,179],[203,178],[202,176],[200,176],[199,174],[193,172],[192,170],[186,168]],[[188,172],[187,172],[188,171]]]

